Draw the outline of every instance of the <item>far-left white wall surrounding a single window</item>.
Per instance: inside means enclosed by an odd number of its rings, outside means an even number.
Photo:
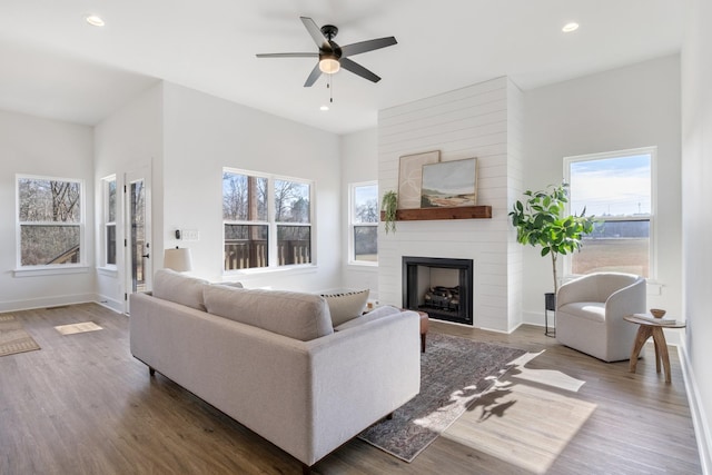
[[[92,129],[0,111],[0,311],[93,300]],[[79,274],[16,277],[16,174],[85,181],[87,268]]]

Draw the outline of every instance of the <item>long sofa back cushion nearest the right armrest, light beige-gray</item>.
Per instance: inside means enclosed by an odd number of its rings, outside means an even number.
[[[208,313],[308,342],[334,333],[329,308],[318,295],[205,286]]]

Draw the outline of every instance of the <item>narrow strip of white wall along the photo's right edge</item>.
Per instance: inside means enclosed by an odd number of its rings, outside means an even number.
[[[712,3],[694,0],[682,52],[682,226],[689,396],[704,473],[712,473]]]

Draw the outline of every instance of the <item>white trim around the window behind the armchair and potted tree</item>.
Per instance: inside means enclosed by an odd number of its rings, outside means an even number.
[[[601,160],[606,158],[621,158],[626,156],[634,155],[650,155],[650,199],[651,199],[651,211],[647,217],[640,217],[639,220],[650,220],[650,247],[647,249],[647,266],[649,273],[647,281],[655,283],[657,279],[657,147],[639,147],[631,148],[624,150],[614,150],[614,151],[605,151],[599,154],[586,154],[586,155],[576,155],[571,157],[564,157],[563,166],[564,166],[564,180],[570,184],[571,182],[571,164],[576,161],[591,161],[591,160]],[[566,204],[566,212],[571,212],[571,204]],[[636,220],[635,217],[625,217],[625,218],[611,218],[606,219],[610,221],[614,220]],[[565,255],[563,257],[564,264],[564,279],[571,279],[577,277],[572,273],[572,255]]]

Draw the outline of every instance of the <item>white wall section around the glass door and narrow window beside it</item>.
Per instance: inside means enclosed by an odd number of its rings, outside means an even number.
[[[101,244],[102,207],[101,179],[116,175],[117,178],[117,241],[121,243],[125,235],[125,199],[121,190],[127,172],[141,168],[152,170],[152,229],[162,228],[162,83],[149,88],[121,109],[107,117],[95,128],[95,184],[97,189],[97,230],[96,241]],[[156,239],[160,232],[154,232],[149,243],[162,249],[162,244]],[[162,254],[151,254],[155,266],[162,265]],[[101,249],[97,246],[97,263],[101,263]],[[97,291],[99,301],[118,310],[125,310],[123,294],[126,293],[127,276],[123,247],[117,248],[116,269],[100,268],[97,273]]]

